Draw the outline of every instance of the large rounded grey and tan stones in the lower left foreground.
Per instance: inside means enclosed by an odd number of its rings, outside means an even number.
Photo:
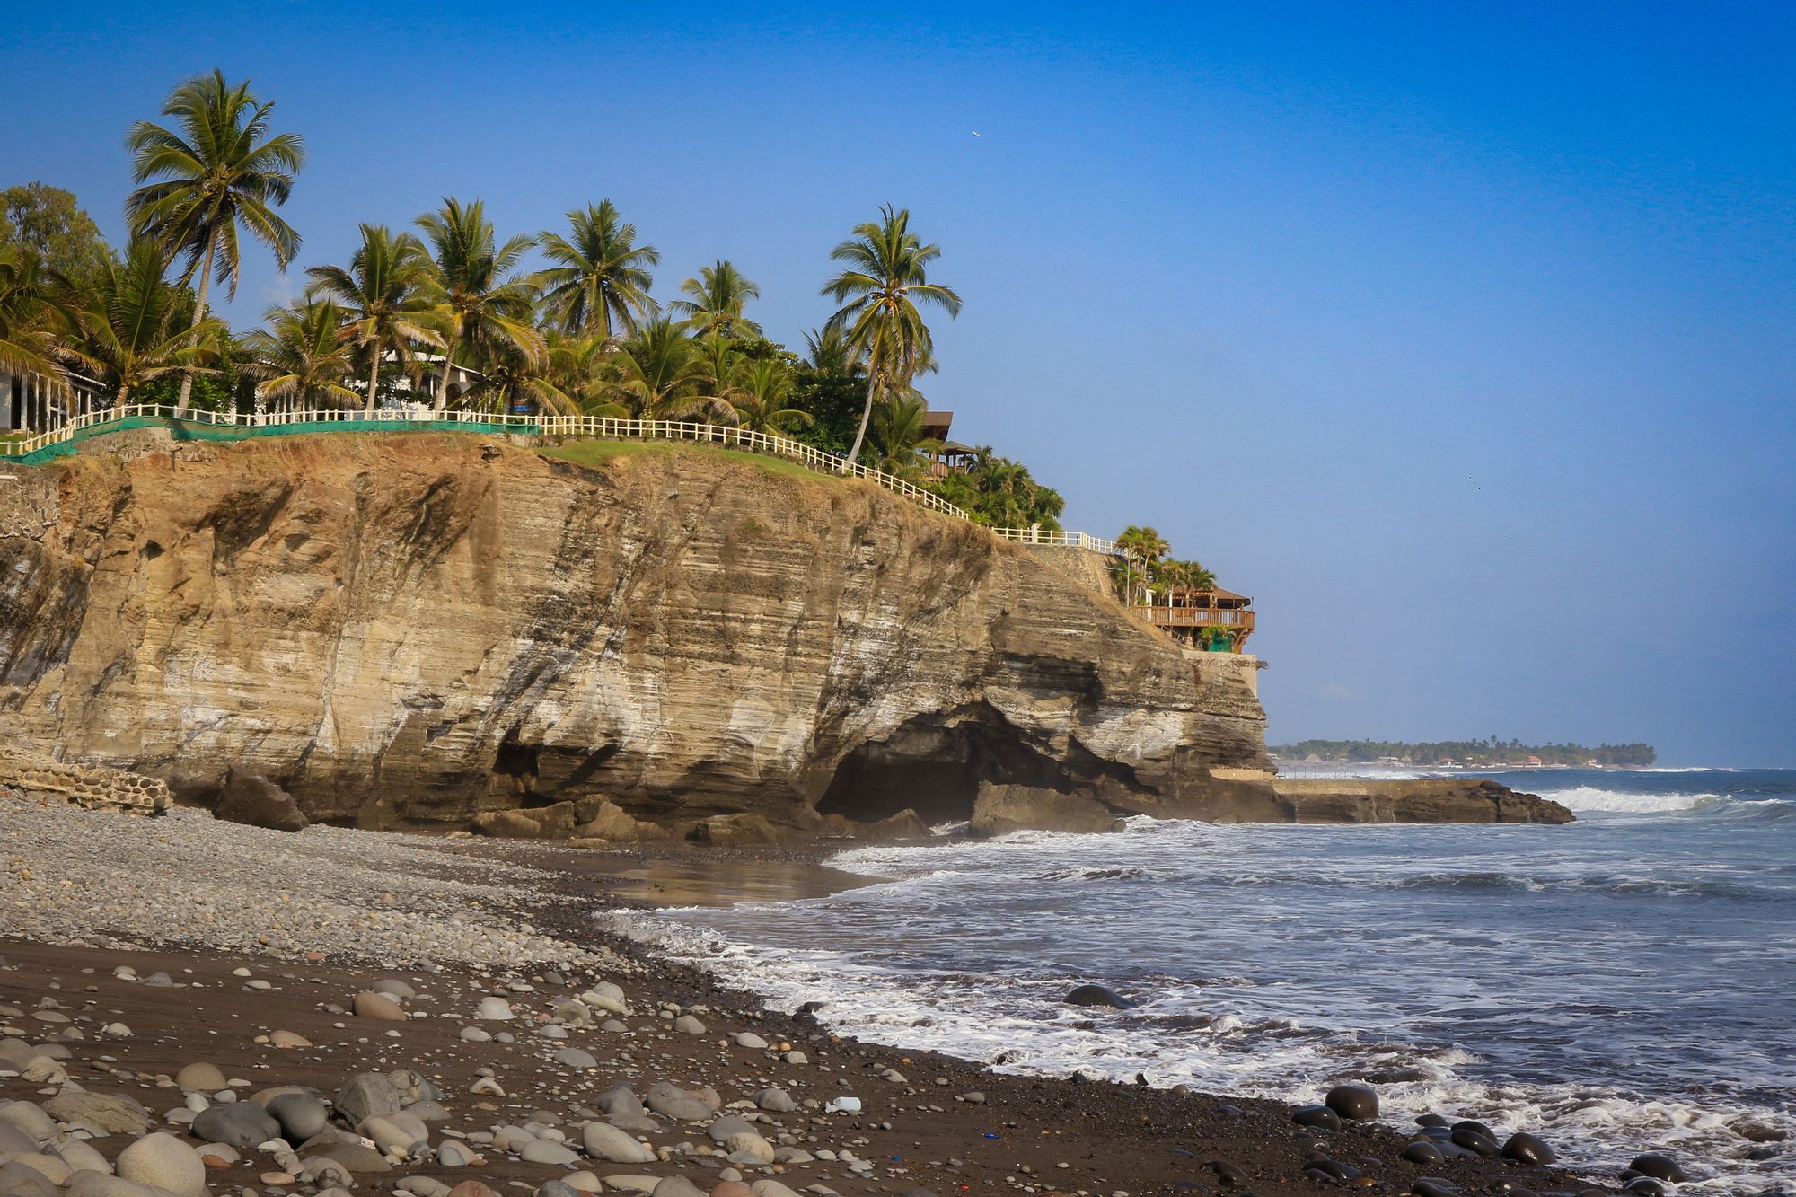
[[[131,965],[113,969],[113,978],[149,987],[192,983],[162,972],[138,976]],[[226,980],[244,990],[268,987],[250,969]],[[582,1082],[544,1082],[539,1073],[528,1093],[512,1095],[506,1086],[523,1078],[492,1068],[476,1069],[465,1093],[447,1093],[411,1068],[357,1071],[334,1091],[280,1084],[278,1053],[269,1055],[273,1077],[253,1082],[205,1059],[190,1059],[172,1075],[145,1075],[119,1066],[108,1051],[129,1041],[133,1030],[101,1024],[99,1015],[66,1003],[66,994],[0,1005],[0,1084],[7,1091],[18,1091],[13,1082],[40,1086],[29,1100],[0,1100],[0,1193],[212,1197],[221,1188],[208,1184],[208,1175],[250,1170],[257,1184],[223,1192],[348,1197],[359,1186],[377,1186],[409,1197],[494,1197],[492,1184],[519,1184],[492,1179],[494,1165],[532,1165],[548,1174],[533,1197],[833,1197],[839,1190],[828,1183],[832,1177],[876,1175],[878,1165],[857,1154],[864,1139],[826,1145],[832,1114],[858,1109],[858,1102],[794,1096],[810,1084],[797,1077],[808,1059],[794,1044],[751,1030],[718,1035],[702,1021],[715,1019],[702,1005],[656,1003],[652,1015],[632,1012],[625,989],[611,981],[577,985],[559,971],[546,971],[539,981],[560,992],[546,994],[514,976],[492,981],[478,999],[463,994],[456,1012],[433,1012],[429,1006],[440,1005],[433,994],[401,978],[379,978],[343,1003],[323,1006],[343,1017],[339,1026],[350,1026],[350,1033],[381,1035],[384,1024],[451,1017],[462,1024],[463,1042],[528,1042],[553,1066],[548,1075]],[[711,1086],[666,1078],[641,1093],[630,1084],[600,1089],[589,1084],[594,1055],[569,1041],[620,1035],[636,1048],[621,1051],[620,1060],[639,1055],[639,1064],[648,1066],[657,1057],[654,1042],[706,1035],[717,1037],[720,1051],[738,1053],[747,1071],[787,1073],[790,1080],[758,1086],[736,1100]],[[259,1042],[311,1046],[286,1032]],[[377,1051],[368,1048],[363,1059]],[[106,1091],[84,1087],[75,1073],[84,1080],[99,1077]],[[456,1105],[460,1114],[451,1113]],[[485,1127],[449,1125],[471,1120]],[[489,1170],[485,1177],[481,1170]]]

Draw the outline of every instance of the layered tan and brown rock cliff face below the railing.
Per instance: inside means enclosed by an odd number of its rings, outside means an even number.
[[[677,825],[968,818],[982,785],[1203,816],[1263,769],[1241,669],[862,483],[460,437],[153,448],[0,483],[22,748],[320,820],[607,798]],[[1264,787],[1259,787],[1264,789]]]

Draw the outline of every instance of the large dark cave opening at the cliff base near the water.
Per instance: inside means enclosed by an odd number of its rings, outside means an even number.
[[[819,814],[876,823],[916,811],[930,825],[973,816],[979,785],[1067,789],[1065,767],[1024,742],[995,712],[912,719],[884,740],[857,746],[837,766]]]

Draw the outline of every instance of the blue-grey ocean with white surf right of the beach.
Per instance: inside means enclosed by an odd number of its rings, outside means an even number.
[[[1367,771],[1390,776],[1390,771]],[[1410,773],[1412,776],[1421,773]],[[1796,769],[1530,769],[1568,827],[1130,820],[853,848],[884,879],[621,929],[832,1028],[1004,1071],[1378,1086],[1613,1174],[1796,1192]],[[1060,1003],[1083,981],[1140,1005]],[[1749,1159],[1749,1154],[1773,1154]]]

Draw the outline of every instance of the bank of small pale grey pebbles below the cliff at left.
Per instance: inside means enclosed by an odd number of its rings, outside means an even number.
[[[444,852],[442,839],[309,827],[277,832],[199,811],[126,818],[7,802],[0,926],[43,944],[205,945],[384,967],[614,962],[532,931],[541,870]]]

